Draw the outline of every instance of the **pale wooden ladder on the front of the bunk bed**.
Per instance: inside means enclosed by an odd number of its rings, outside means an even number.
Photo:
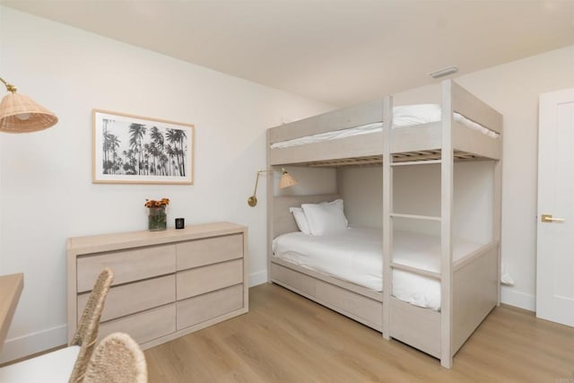
[[[391,153],[392,118],[383,124],[383,336],[390,339],[390,310],[393,269],[438,279],[440,281],[440,364],[452,367],[452,239],[451,222],[453,210],[454,151],[452,144],[452,82],[441,83],[442,92],[442,141],[441,159],[432,161],[394,162]],[[384,116],[392,116],[392,98],[384,101]],[[396,167],[440,164],[440,216],[396,213],[393,211],[393,170]],[[441,259],[440,273],[432,273],[416,267],[393,262],[393,219],[406,218],[440,222]]]

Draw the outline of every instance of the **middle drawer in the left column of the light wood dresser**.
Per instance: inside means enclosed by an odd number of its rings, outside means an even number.
[[[78,321],[82,318],[89,292],[78,295]],[[144,309],[152,309],[176,300],[175,274],[122,284],[109,289],[101,320],[124,317]]]

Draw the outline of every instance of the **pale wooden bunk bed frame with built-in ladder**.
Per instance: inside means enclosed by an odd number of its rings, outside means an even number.
[[[431,118],[412,118],[412,109],[394,109],[393,98],[387,96],[268,129],[267,164],[271,168],[340,169],[378,164],[383,172],[383,229],[374,245],[379,248],[379,259],[369,265],[382,267],[378,284],[361,283],[290,257],[298,253],[297,249],[290,253],[289,242],[278,242],[285,236],[301,237],[290,209],[334,201],[340,195],[275,196],[273,178],[267,179],[268,273],[270,282],[370,326],[386,339],[394,338],[431,354],[450,368],[454,354],[500,304],[502,116],[451,80],[440,84],[440,92],[441,103],[438,109],[431,107]],[[461,246],[453,238],[456,161],[492,162],[488,243]],[[399,167],[425,164],[440,168],[439,215],[393,211],[393,172]],[[400,242],[418,240],[398,239],[400,232],[393,225],[401,219],[439,225],[433,245],[421,245],[435,248],[434,267],[401,259],[397,250]],[[394,289],[400,290],[396,274],[432,280],[439,291],[438,303],[425,306],[401,300],[400,294],[394,293]]]

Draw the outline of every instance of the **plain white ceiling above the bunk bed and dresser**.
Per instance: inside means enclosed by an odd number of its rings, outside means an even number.
[[[0,4],[338,106],[574,44],[570,0]]]

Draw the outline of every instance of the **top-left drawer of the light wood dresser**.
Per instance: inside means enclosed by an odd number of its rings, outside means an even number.
[[[176,245],[135,248],[97,253],[77,258],[77,291],[88,292],[101,270],[108,266],[114,272],[114,283],[128,283],[161,274],[174,273]]]

